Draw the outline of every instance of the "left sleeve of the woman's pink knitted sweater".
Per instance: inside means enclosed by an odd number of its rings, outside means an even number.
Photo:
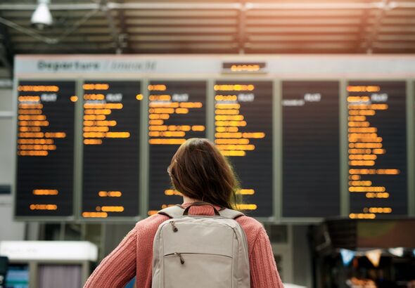
[[[125,287],[136,275],[136,231],[131,230],[94,273],[89,276],[84,288]]]

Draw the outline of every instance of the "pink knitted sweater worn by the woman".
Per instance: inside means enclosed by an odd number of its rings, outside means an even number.
[[[182,204],[183,207],[189,203]],[[213,215],[209,206],[193,206],[192,215]],[[156,214],[136,223],[124,240],[101,261],[84,288],[124,287],[136,276],[137,288],[151,288],[153,240],[158,226],[168,219]],[[236,221],[248,240],[252,288],[283,288],[267,232],[254,218],[241,216]]]

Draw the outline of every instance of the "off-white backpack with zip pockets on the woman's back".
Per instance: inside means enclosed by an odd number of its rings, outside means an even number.
[[[243,214],[214,207],[215,216],[188,215],[190,207],[172,206],[158,212],[170,219],[155,233],[151,287],[250,287],[248,243],[234,220]]]

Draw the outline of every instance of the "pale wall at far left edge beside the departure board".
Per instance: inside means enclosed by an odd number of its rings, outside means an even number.
[[[0,112],[13,111],[13,91],[0,87]],[[15,152],[13,119],[0,116],[0,185],[13,184]],[[12,195],[0,195],[0,241],[23,240],[25,224],[13,221]]]

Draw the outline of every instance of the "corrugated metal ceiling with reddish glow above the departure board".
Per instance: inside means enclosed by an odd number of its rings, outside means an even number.
[[[1,68],[15,54],[414,53],[415,0],[0,1]]]

